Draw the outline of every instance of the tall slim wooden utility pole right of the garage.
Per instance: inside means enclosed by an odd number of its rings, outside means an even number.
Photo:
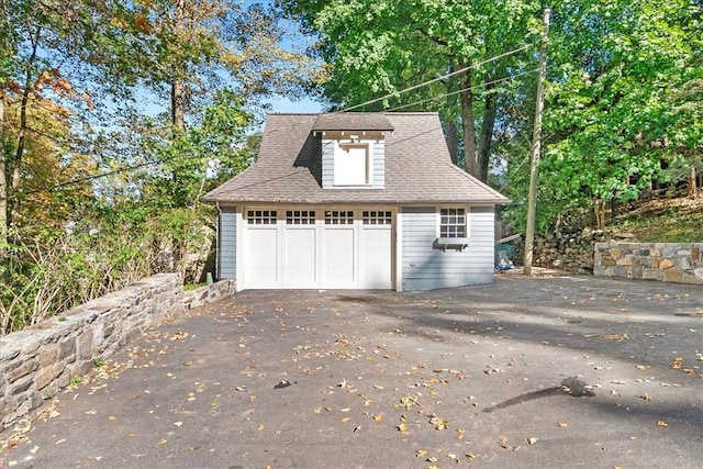
[[[535,105],[535,125],[532,136],[532,157],[529,166],[529,193],[527,196],[527,228],[525,231],[525,258],[523,269],[526,276],[532,275],[532,257],[535,244],[535,212],[537,209],[537,175],[539,153],[542,150],[542,114],[545,109],[544,81],[547,75],[547,34],[549,33],[549,13],[545,9],[542,47],[539,49],[539,78],[537,79],[537,104]]]

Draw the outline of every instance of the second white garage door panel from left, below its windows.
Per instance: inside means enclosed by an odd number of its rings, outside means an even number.
[[[317,234],[314,227],[284,230],[283,288],[315,288]]]

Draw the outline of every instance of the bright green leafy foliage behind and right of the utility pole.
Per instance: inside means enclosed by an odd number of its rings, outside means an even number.
[[[698,20],[687,7],[685,0],[555,5],[540,228],[565,214],[588,213],[594,202],[637,199],[652,181],[670,178],[662,165],[676,169],[676,178],[690,171],[687,165],[672,165],[685,160],[690,168],[702,147],[700,114],[691,112],[700,94],[681,94],[701,74],[694,66],[701,44],[693,27]],[[679,110],[672,102],[680,102]],[[522,156],[511,157],[513,167]],[[510,175],[510,196],[517,204],[507,213],[518,230],[527,167]]]

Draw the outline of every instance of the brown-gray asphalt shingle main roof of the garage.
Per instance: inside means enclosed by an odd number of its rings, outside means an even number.
[[[389,124],[390,129],[380,129]],[[384,189],[322,188],[321,137],[313,131],[343,127],[389,131]],[[302,204],[507,202],[500,192],[451,163],[439,116],[434,112],[269,114],[257,163],[203,200]]]

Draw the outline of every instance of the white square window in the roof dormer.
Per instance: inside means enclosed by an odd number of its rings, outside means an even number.
[[[334,186],[368,186],[373,183],[372,144],[335,142]]]

